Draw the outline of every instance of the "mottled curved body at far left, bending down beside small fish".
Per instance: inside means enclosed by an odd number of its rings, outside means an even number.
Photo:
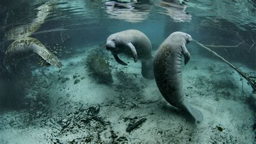
[[[62,67],[58,57],[46,49],[39,40],[31,37],[15,40],[6,50],[3,64],[5,66],[15,64],[33,54],[38,54],[55,67]]]

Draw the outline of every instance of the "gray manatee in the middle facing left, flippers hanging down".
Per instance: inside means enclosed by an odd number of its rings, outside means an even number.
[[[111,51],[114,59],[121,65],[127,64],[119,59],[119,53],[133,57],[135,63],[140,59],[142,61],[142,76],[146,79],[154,78],[152,46],[149,38],[144,33],[138,30],[114,33],[106,40],[106,50]]]

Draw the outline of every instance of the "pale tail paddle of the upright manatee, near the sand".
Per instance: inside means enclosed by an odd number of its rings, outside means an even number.
[[[203,121],[203,113],[201,113],[197,108],[192,107],[186,101],[184,101],[185,110],[193,116],[197,123]]]

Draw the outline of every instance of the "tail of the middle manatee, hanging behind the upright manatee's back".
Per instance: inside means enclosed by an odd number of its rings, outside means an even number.
[[[146,79],[154,79],[154,58],[142,59],[142,76]]]

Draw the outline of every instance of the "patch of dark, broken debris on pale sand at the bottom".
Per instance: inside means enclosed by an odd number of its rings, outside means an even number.
[[[57,116],[56,119],[51,118],[51,122],[55,131],[52,131],[51,142],[62,142],[61,138],[65,138],[66,134],[80,135],[78,138],[70,137],[69,142],[102,142],[100,133],[109,133],[110,141],[116,141],[118,136],[114,136],[111,122],[99,115],[101,111],[99,105],[91,105],[88,107],[80,106],[75,111]]]

